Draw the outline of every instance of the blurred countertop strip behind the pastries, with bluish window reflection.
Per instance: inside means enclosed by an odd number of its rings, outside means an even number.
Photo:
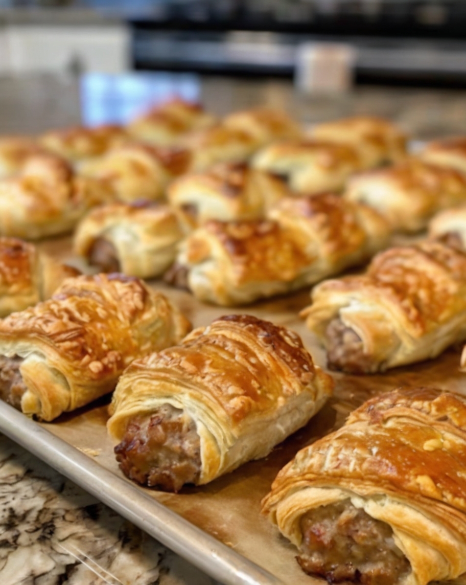
[[[39,133],[84,120],[126,122],[151,104],[180,95],[202,101],[218,115],[263,104],[282,108],[301,122],[371,114],[397,122],[416,140],[466,133],[465,90],[358,86],[348,94],[299,94],[291,81],[236,79],[194,74],[90,73],[0,76],[0,134]]]

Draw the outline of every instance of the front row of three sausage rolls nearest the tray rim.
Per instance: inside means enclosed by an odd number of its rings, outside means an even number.
[[[332,395],[332,377],[290,330],[250,315],[189,328],[135,278],[70,278],[0,322],[2,398],[53,419],[118,380],[108,430],[121,469],[178,491],[264,457]],[[298,452],[263,513],[313,576],[453,580],[466,571],[465,425],[460,395],[405,388],[372,398]]]

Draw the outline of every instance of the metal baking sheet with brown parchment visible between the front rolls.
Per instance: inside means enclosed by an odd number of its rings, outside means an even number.
[[[50,240],[43,247],[61,259],[70,257],[69,239]],[[308,291],[244,309],[228,309],[204,305],[188,292],[163,283],[150,284],[178,304],[194,326],[207,325],[220,315],[245,312],[294,329],[315,362],[325,365],[322,349],[298,317],[299,310],[309,303]],[[384,375],[334,374],[336,390],[332,400],[268,457],[247,463],[207,486],[184,488],[179,494],[144,489],[126,480],[106,435],[105,400],[48,424],[29,421],[17,412],[9,414],[11,409],[1,404],[0,430],[223,583],[310,585],[322,581],[301,571],[294,547],[260,515],[260,501],[275,475],[298,449],[343,424],[348,412],[371,395],[404,385],[434,386],[466,394],[466,376],[458,371],[459,360],[458,347],[432,362]]]

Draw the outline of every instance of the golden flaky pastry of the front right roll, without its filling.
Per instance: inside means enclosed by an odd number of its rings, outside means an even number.
[[[312,558],[302,518],[351,503],[390,526],[408,559],[409,572],[393,585],[453,580],[466,572],[465,461],[465,398],[402,388],[365,402],[338,431],[299,451],[272,484],[263,513]]]

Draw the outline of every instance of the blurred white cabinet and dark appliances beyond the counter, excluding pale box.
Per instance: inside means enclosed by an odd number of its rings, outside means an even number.
[[[466,84],[464,0],[0,0],[2,71],[292,75],[305,42],[358,82]]]

